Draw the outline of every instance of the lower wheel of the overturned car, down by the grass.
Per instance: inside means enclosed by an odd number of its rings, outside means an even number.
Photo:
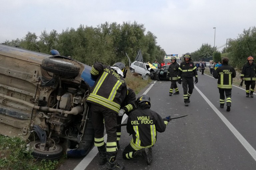
[[[63,155],[62,147],[55,143],[52,146],[46,146],[45,150],[40,150],[40,141],[32,141],[29,143],[30,148],[32,149],[32,155],[39,159],[47,159],[47,160],[57,160]],[[51,147],[51,149],[50,149]]]

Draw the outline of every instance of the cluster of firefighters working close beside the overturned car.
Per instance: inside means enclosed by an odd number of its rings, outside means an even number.
[[[135,92],[125,82],[127,70],[121,62],[107,66],[96,62],[91,69],[95,80],[92,92],[86,102],[90,105],[94,128],[94,145],[99,151],[99,165],[107,163],[108,170],[124,170],[116,162],[116,155],[121,137],[124,114],[128,115],[127,132],[132,139],[123,151],[124,159],[141,156],[148,165],[152,162],[151,147],[157,140],[157,131],[165,131],[169,117],[161,118],[150,110],[150,97],[142,95],[137,98]],[[107,141],[104,142],[104,126]],[[154,132],[154,133],[153,133]]]

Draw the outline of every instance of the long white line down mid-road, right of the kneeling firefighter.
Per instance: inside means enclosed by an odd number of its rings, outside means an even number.
[[[237,86],[236,86],[237,87]],[[207,97],[195,86],[195,89],[204,98],[204,100],[210,105],[210,107],[215,111],[215,113],[220,117],[224,124],[230,129],[230,131],[236,136],[236,138],[241,142],[245,149],[250,153],[253,159],[256,161],[256,151],[250,145],[249,142],[237,131],[237,129],[220,113],[220,111],[207,99]]]

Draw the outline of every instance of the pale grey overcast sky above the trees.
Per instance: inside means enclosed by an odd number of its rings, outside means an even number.
[[[0,43],[28,32],[136,21],[167,54],[180,55],[214,46],[213,27],[218,48],[256,25],[256,0],[1,0],[0,11]]]

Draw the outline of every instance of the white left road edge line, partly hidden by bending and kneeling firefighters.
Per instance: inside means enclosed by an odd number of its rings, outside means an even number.
[[[143,94],[147,94],[148,91],[154,86],[155,83],[156,81],[154,81],[154,83],[151,84]],[[123,116],[122,123],[127,117],[128,116],[126,114]],[[107,140],[107,134],[105,134],[104,136],[104,141],[106,142],[106,140]],[[84,157],[84,159],[81,160],[81,162],[74,168],[74,170],[85,169],[89,165],[89,163],[93,160],[93,158],[97,155],[97,153],[98,153],[98,148],[94,146],[92,150]]]

